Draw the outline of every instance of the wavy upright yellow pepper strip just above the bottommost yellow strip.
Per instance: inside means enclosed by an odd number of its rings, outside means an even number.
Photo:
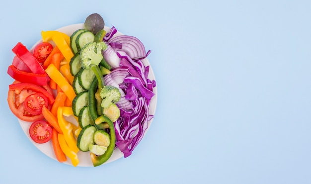
[[[75,153],[78,153],[79,149],[77,146],[77,140],[74,137],[74,133],[73,133],[74,125],[68,122],[67,120],[65,120],[63,116],[63,107],[58,107],[57,109],[57,120],[58,120],[58,124],[61,127],[61,130],[63,131],[63,135],[65,137],[66,143],[68,144],[69,148]]]

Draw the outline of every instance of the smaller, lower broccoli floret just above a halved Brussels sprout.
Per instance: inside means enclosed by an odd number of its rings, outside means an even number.
[[[100,91],[100,97],[103,98],[101,106],[108,108],[112,103],[116,103],[121,98],[121,92],[117,87],[104,86]]]

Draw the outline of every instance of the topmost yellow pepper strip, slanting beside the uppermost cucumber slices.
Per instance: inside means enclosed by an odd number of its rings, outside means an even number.
[[[66,42],[63,35],[59,32],[55,33],[52,36],[52,40],[57,45],[57,47],[60,49],[61,53],[64,55],[65,59],[70,62],[71,58],[74,57],[74,53],[71,50],[69,44]]]

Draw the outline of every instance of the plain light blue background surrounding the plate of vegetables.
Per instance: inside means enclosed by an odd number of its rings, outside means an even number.
[[[6,70],[17,42],[94,12],[152,50],[156,116],[130,157],[74,168],[27,139]],[[311,1],[7,1],[0,17],[1,184],[311,183]]]

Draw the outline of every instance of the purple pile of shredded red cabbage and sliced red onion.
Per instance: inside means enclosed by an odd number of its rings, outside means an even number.
[[[106,85],[119,88],[121,99],[116,103],[120,108],[120,117],[114,122],[116,131],[116,147],[128,157],[142,140],[148,128],[148,122],[154,117],[149,114],[149,104],[155,95],[153,88],[156,81],[148,79],[149,66],[143,59],[150,54],[145,51],[142,42],[133,36],[115,36],[112,27],[104,37],[108,43],[108,51],[104,58],[113,65],[111,73],[104,77]],[[116,59],[116,56],[118,59]]]

